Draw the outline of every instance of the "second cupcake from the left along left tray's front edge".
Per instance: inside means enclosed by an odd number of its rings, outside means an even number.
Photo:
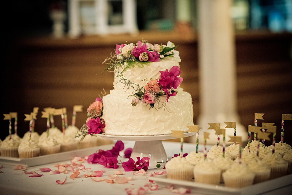
[[[40,155],[40,146],[33,139],[23,139],[18,146],[19,158],[33,158]]]

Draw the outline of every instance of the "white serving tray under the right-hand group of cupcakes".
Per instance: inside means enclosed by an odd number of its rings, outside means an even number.
[[[150,180],[155,181],[159,186],[174,185],[175,188],[184,187],[190,188],[192,193],[208,194],[208,195],[256,195],[262,194],[271,190],[288,186],[292,184],[292,174],[280,178],[272,179],[266,182],[257,183],[244,188],[230,188],[221,185],[210,185],[196,183],[194,181],[182,181],[177,179],[167,179],[166,175],[155,175]]]

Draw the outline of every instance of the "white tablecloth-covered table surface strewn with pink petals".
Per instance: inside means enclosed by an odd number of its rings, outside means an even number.
[[[163,146],[165,148],[166,154],[168,158],[171,158],[174,154],[179,154],[180,152],[180,143],[177,142],[169,142],[163,141]],[[125,148],[133,148],[134,141],[124,141]],[[108,149],[111,149],[113,145],[109,145]],[[210,148],[210,146],[208,147]],[[98,147],[97,147],[98,149]],[[183,144],[183,153],[189,153],[191,151],[196,150],[196,145],[184,143]],[[203,146],[199,146],[199,150],[203,150]],[[73,158],[73,157],[72,157]],[[126,161],[127,159],[124,159]],[[136,160],[136,159],[134,159]],[[0,169],[3,173],[0,173],[0,194],[12,195],[12,194],[22,194],[22,195],[64,195],[64,194],[86,194],[86,195],[112,195],[112,194],[127,194],[125,191],[126,188],[139,188],[144,187],[144,184],[148,183],[148,178],[146,175],[144,176],[134,176],[133,172],[125,172],[120,165],[119,169],[107,169],[99,164],[88,164],[84,162],[85,168],[91,168],[94,170],[105,170],[103,177],[108,179],[109,174],[113,174],[117,170],[123,171],[125,174],[122,175],[124,177],[132,177],[132,180],[128,183],[117,184],[117,183],[106,183],[105,181],[96,182],[93,181],[90,177],[84,178],[83,174],[86,172],[82,172],[80,170],[80,175],[77,178],[70,179],[70,175],[72,172],[67,174],[61,173],[57,175],[49,175],[47,172],[41,172],[39,168],[48,167],[52,170],[56,170],[54,167],[56,164],[60,163],[70,163],[70,159],[68,161],[54,162],[46,165],[39,165],[33,167],[27,167],[26,171],[36,171],[39,174],[43,174],[41,177],[29,177],[29,175],[24,174],[21,170],[13,170],[14,165],[3,165],[3,168]],[[1,166],[1,165],[0,165]],[[164,165],[162,164],[162,167]],[[157,171],[161,171],[163,169],[149,169],[146,173],[154,173]],[[90,173],[89,173],[90,174]],[[64,180],[67,176],[67,181],[63,184],[57,184],[56,180]],[[273,195],[273,194],[291,194],[292,185],[286,186],[277,190],[273,190],[264,195]],[[174,194],[169,190],[165,189],[164,186],[159,186],[158,190],[149,191],[147,194],[152,195],[169,195]],[[195,190],[191,191],[191,194],[197,194]]]

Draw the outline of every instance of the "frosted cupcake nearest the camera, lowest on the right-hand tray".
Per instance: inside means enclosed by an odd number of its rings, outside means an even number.
[[[223,174],[226,187],[243,188],[253,184],[255,173],[245,164],[234,163]]]

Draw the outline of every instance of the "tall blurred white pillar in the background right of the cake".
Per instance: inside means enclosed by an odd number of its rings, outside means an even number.
[[[209,144],[217,143],[208,123],[236,122],[236,135],[247,140],[247,132],[237,113],[235,36],[230,16],[232,0],[199,0],[198,57],[200,116],[197,124],[210,132]],[[233,129],[226,129],[233,136]],[[203,133],[199,141],[203,142]],[[222,144],[221,138],[220,143]],[[228,143],[230,144],[230,143]]]

